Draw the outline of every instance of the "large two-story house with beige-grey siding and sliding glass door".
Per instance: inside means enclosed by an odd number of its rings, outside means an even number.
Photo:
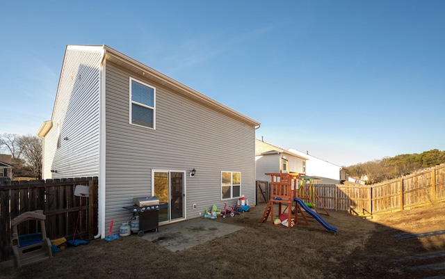
[[[129,221],[122,207],[138,197],[168,204],[161,224],[196,218],[241,195],[254,200],[258,127],[106,45],[68,45],[51,120],[38,131],[43,178],[99,177],[97,237],[111,220]]]

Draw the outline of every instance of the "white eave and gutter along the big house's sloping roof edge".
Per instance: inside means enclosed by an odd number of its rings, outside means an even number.
[[[112,63],[120,65],[120,67],[124,67],[125,69],[130,70],[131,72],[136,72],[137,74],[140,74],[141,76],[144,76],[147,79],[155,81],[156,83],[160,83],[161,85],[170,88],[171,90],[174,90],[176,93],[191,98],[196,102],[204,104],[205,106],[209,106],[212,109],[215,109],[216,111],[220,111],[225,115],[231,116],[232,118],[241,120],[242,122],[245,122],[248,125],[252,125],[253,127],[257,127],[260,125],[259,122],[251,118],[248,118],[247,116],[241,113],[238,113],[238,111],[234,111],[233,109],[230,109],[229,107],[220,104],[219,102],[216,102],[215,100],[207,97],[206,95],[203,95],[202,93],[199,93],[196,90],[193,90],[188,86],[185,86],[179,81],[175,81],[175,79],[172,79],[166,76],[165,74],[162,74],[161,72],[158,72],[152,69],[151,67],[148,67],[147,65],[144,65],[143,63],[140,63],[139,61],[136,61],[135,59],[125,54],[122,54],[121,52],[115,49],[112,49],[111,47],[108,47],[107,45],[100,45],[100,46],[67,45],[66,51],[68,50],[102,52],[103,59],[106,59],[106,61],[111,61]]]

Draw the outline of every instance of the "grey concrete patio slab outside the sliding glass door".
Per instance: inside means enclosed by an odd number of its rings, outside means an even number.
[[[210,218],[194,218],[159,227],[159,232],[145,232],[143,239],[177,252],[243,229],[238,225],[218,222]]]

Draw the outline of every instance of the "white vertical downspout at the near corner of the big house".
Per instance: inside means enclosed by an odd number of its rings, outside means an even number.
[[[105,237],[105,55],[106,49],[102,49],[102,61],[99,63],[99,189],[95,239]]]

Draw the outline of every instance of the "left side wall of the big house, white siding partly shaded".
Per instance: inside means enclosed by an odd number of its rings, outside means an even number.
[[[99,175],[101,58],[100,51],[67,49],[65,53],[51,118],[57,125],[44,139],[44,179]]]

